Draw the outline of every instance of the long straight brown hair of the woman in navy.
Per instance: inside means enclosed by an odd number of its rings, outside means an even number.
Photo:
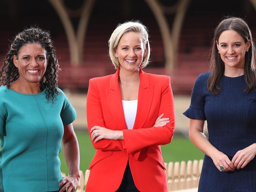
[[[247,85],[247,89],[245,89],[245,92],[248,93],[256,87],[256,70],[254,66],[256,55],[255,46],[252,40],[252,33],[249,26],[247,25],[245,20],[237,17],[225,18],[219,23],[219,25],[215,29],[211,48],[211,74],[207,81],[207,88],[215,95],[221,92],[221,88],[218,86],[218,83],[221,77],[224,75],[225,65],[221,59],[221,55],[218,53],[216,41],[219,42],[219,36],[223,31],[226,30],[234,30],[239,33],[245,40],[245,43],[248,40],[251,41],[249,51],[245,53],[245,82]]]

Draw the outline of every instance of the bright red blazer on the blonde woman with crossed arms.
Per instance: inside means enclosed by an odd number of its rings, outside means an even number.
[[[139,191],[168,192],[160,145],[170,143],[174,133],[170,78],[140,70],[138,106],[133,129],[126,127],[118,79],[119,70],[115,74],[89,81],[89,132],[93,126],[123,130],[124,140],[103,139],[92,142],[96,153],[89,166],[91,172],[85,191],[115,192],[129,161]],[[170,118],[170,123],[164,127],[152,127],[162,113],[164,117]]]

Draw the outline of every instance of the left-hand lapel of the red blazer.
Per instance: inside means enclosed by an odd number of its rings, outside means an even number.
[[[109,88],[106,87],[106,96],[109,110],[120,130],[127,129],[124,120],[124,110],[122,107],[122,96],[119,87],[119,69],[110,79]]]

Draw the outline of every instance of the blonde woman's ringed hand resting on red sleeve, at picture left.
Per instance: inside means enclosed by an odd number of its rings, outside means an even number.
[[[111,140],[121,140],[124,139],[124,135],[122,131],[114,131],[111,129],[107,129],[105,127],[94,126],[91,128],[91,140],[93,141],[95,138],[95,143],[101,139],[111,139]]]

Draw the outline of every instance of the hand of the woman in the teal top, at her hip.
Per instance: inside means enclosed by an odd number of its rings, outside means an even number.
[[[61,188],[59,192],[74,192],[79,182],[79,178],[76,175],[69,175],[67,177],[63,177],[62,181],[59,183],[59,187]]]

